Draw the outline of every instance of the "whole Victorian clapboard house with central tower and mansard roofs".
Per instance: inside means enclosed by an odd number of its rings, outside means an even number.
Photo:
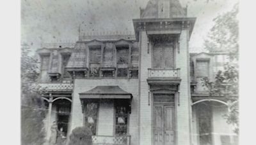
[[[140,12],[132,34],[80,33],[74,46],[37,51],[47,141],[55,121],[67,139],[88,125],[93,144],[236,144],[227,102],[202,86],[225,53],[189,53],[196,18],[179,0],[150,0]]]

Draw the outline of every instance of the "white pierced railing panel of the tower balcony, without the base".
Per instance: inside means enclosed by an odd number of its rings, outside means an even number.
[[[180,69],[148,69],[148,78],[180,77]]]

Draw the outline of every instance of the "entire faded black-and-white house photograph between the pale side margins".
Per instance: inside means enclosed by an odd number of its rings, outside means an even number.
[[[239,145],[239,0],[21,0],[21,145]]]

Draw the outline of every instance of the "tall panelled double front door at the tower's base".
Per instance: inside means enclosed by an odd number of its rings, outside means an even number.
[[[174,106],[154,104],[154,144],[174,145]]]

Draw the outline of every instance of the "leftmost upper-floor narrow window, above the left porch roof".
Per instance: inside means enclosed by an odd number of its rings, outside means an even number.
[[[50,55],[41,56],[41,82],[46,83],[49,81],[49,76],[47,74],[49,70]]]

